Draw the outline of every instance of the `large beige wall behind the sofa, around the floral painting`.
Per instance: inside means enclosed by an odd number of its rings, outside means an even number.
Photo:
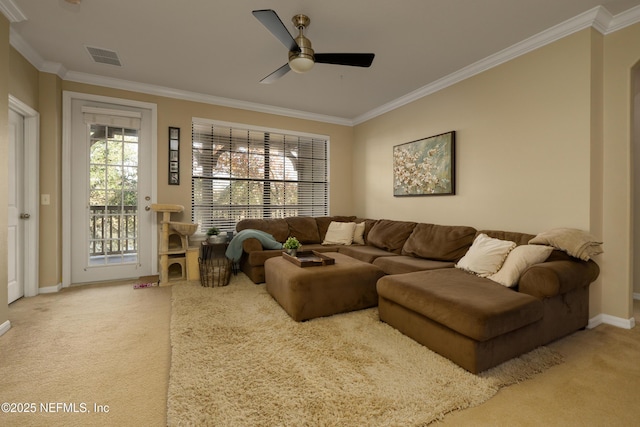
[[[590,228],[590,31],[356,127],[356,211],[537,233]],[[394,145],[456,131],[455,196],[393,197]]]

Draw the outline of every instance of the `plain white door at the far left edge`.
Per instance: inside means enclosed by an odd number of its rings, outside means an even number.
[[[9,110],[9,230],[8,230],[8,287],[9,303],[24,296],[24,229],[27,220],[23,212],[22,167],[24,165],[24,117]],[[21,218],[22,216],[22,218]]]

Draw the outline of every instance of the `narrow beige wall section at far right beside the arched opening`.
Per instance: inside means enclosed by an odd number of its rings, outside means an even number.
[[[632,228],[632,68],[640,60],[640,24],[604,39],[604,169],[602,312],[631,317]]]

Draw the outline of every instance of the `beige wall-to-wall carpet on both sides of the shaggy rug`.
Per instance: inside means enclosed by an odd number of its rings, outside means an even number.
[[[0,425],[167,425],[172,288],[134,290],[132,285],[78,286],[9,305],[11,329],[0,337],[0,402],[43,403],[50,412],[0,412]],[[640,321],[640,301],[634,307]],[[548,348],[562,354],[564,362],[435,425],[638,424],[640,327],[601,325]],[[212,404],[217,401],[214,397]],[[83,402],[92,412],[55,406],[80,408]],[[108,412],[94,412],[94,403],[108,406]]]

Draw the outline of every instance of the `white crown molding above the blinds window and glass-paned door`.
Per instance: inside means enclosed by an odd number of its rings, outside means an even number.
[[[79,73],[77,71],[67,71],[63,78],[64,80],[73,81],[76,83],[105,86],[113,89],[130,90],[133,92],[146,93],[149,95],[182,99],[185,101],[201,102],[203,104],[219,105],[221,107],[238,108],[241,110],[249,110],[249,111],[256,111],[259,113],[292,117],[296,119],[332,123],[332,124],[342,125],[342,126],[353,126],[353,122],[351,120],[345,119],[342,117],[327,116],[322,114],[309,113],[306,111],[274,107],[272,105],[240,101],[240,100],[230,99],[230,98],[222,98],[219,96],[172,89],[172,88],[163,87],[163,86],[155,86],[155,85],[150,85],[146,83],[137,83],[137,82],[132,82],[128,80],[114,79],[111,77],[97,76],[94,74]]]

